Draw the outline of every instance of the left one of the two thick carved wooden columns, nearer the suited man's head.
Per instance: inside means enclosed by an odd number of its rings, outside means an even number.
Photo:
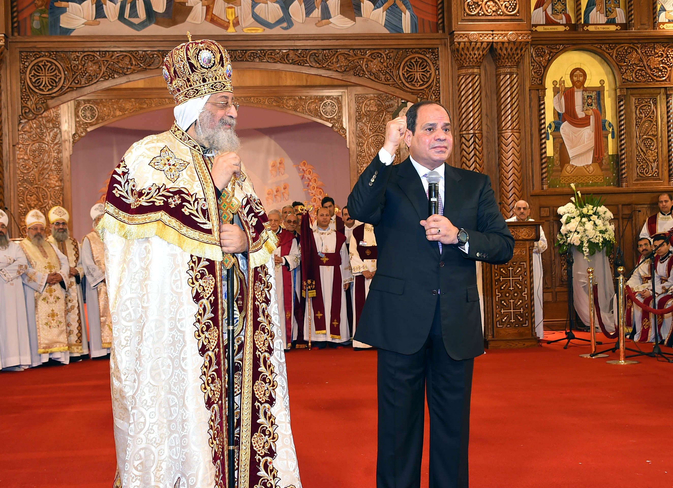
[[[458,69],[458,129],[460,166],[484,172],[484,131],[481,123],[481,63],[491,42],[456,42],[451,46]]]

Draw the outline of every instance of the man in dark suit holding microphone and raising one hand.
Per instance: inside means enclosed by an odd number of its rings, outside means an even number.
[[[410,157],[393,166],[402,139]],[[425,390],[429,487],[468,486],[472,366],[484,351],[474,261],[506,263],[514,240],[489,177],[446,164],[452,147],[448,110],[414,104],[388,123],[384,147],[348,199],[351,217],[374,225],[378,244],[355,334],[379,349],[378,488],[420,486]],[[428,215],[431,171],[439,215]]]

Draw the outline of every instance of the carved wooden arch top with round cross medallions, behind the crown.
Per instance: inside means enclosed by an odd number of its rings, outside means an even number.
[[[48,102],[99,81],[160,67],[166,50],[24,51],[20,53],[21,116],[30,120]],[[232,61],[333,71],[439,100],[439,48],[229,50]]]

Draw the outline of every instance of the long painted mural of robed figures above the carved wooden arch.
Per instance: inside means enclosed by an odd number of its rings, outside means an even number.
[[[437,0],[12,0],[20,36],[437,32]]]

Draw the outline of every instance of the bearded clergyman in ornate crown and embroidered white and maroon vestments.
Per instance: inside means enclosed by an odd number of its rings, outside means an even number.
[[[168,53],[162,73],[175,124],[127,151],[97,226],[112,316],[115,486],[221,487],[236,469],[240,487],[299,488],[277,237],[237,154],[232,64],[217,42],[189,40]],[[236,335],[234,413],[227,314]],[[228,421],[235,467],[227,465]]]

